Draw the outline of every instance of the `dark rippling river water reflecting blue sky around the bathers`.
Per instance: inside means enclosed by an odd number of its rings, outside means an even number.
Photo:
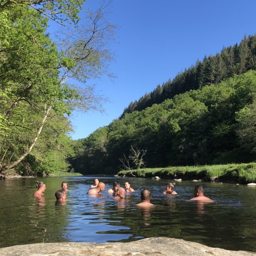
[[[102,192],[87,191],[94,178],[112,188],[130,181],[135,192],[124,202]],[[46,183],[45,195],[33,197],[36,181]],[[54,193],[68,182],[66,204]],[[147,237],[179,238],[227,250],[256,252],[256,187],[203,183],[213,203],[188,201],[195,185],[176,182],[178,195],[162,194],[170,180],[75,176],[0,180],[0,248],[48,242],[130,242]],[[152,193],[151,209],[140,209],[140,192]]]

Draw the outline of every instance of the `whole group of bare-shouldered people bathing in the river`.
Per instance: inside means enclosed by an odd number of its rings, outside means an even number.
[[[165,187],[165,190],[163,191],[163,194],[171,194],[175,195],[178,194],[176,193],[174,189],[175,183],[168,183]],[[66,199],[66,193],[68,192],[68,184],[66,181],[62,182],[61,185],[62,189],[57,190],[55,192],[55,197],[57,201],[64,202]],[[46,185],[42,181],[37,181],[36,182],[36,188],[37,191],[34,193],[34,197],[41,197],[43,195],[43,192],[46,189]],[[97,195],[100,194],[101,191],[103,191],[105,188],[105,184],[103,182],[99,182],[98,179],[94,180],[94,185],[91,186],[91,189],[87,192],[87,194],[90,195]],[[109,190],[107,190],[107,193],[113,194],[113,196],[116,197],[116,199],[124,199],[126,193],[133,192],[134,189],[130,187],[130,182],[126,181],[125,182],[125,189],[120,187],[120,182],[114,181],[113,187]],[[136,204],[138,206],[151,206],[153,205],[150,203],[150,200],[152,199],[151,197],[151,192],[148,189],[144,189],[141,191],[141,203]],[[197,185],[194,187],[194,197],[191,198],[190,200],[206,200],[208,202],[212,201],[209,197],[204,196],[204,187],[203,185]]]

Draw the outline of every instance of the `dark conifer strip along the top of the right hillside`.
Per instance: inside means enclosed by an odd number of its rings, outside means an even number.
[[[153,92],[145,93],[138,101],[131,102],[120,118],[125,113],[141,111],[153,104],[162,103],[165,99],[172,99],[177,94],[219,83],[234,74],[243,74],[251,69],[256,69],[256,35],[245,36],[239,45],[236,43],[223,47],[215,56],[205,56],[202,61],[197,60],[195,65],[180,72],[172,81],[158,85]]]

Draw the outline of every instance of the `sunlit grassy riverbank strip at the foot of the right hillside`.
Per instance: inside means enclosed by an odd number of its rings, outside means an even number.
[[[211,181],[212,177],[218,177],[218,180],[222,182],[248,184],[256,182],[256,163],[145,168],[132,170],[132,173],[141,178],[159,176],[162,179],[202,179],[204,181]],[[118,175],[132,176],[130,171],[124,170],[119,171]]]

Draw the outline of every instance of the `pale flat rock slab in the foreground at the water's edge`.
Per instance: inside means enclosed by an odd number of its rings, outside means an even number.
[[[40,243],[0,249],[5,256],[252,256],[255,252],[229,251],[182,239],[151,237],[129,243]]]

